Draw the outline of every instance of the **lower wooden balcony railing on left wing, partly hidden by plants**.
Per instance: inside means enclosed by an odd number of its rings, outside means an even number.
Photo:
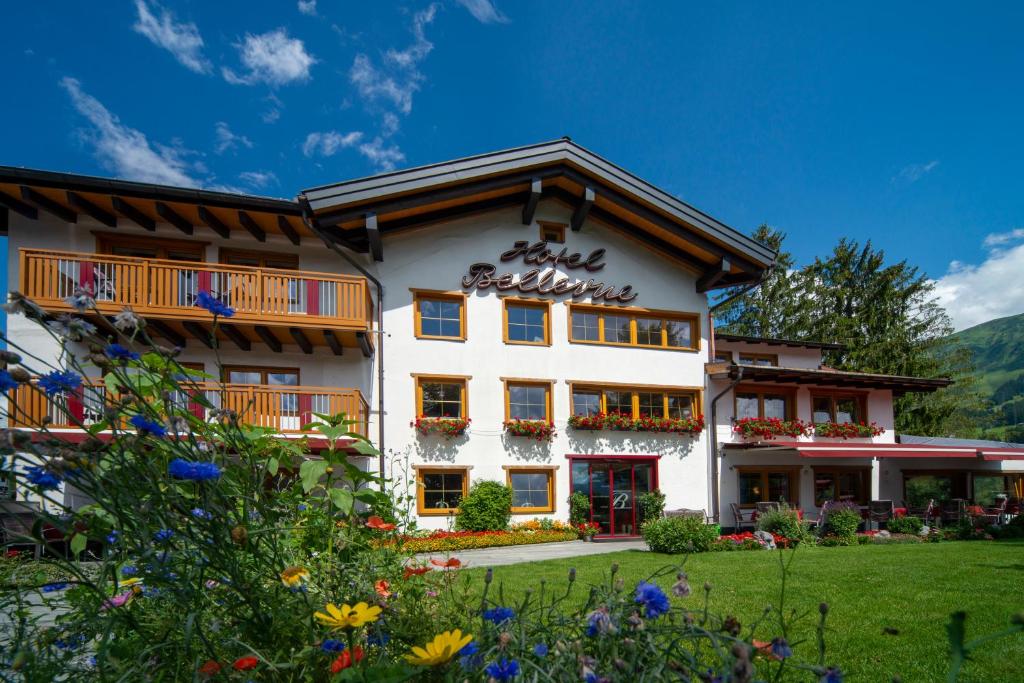
[[[210,401],[212,410],[195,399],[200,394]],[[230,410],[243,424],[269,427],[280,433],[301,433],[303,425],[315,420],[313,413],[344,413],[358,420],[353,431],[366,436],[370,416],[370,405],[358,389],[197,382],[182,386],[168,398],[201,420],[214,419],[215,410]],[[116,396],[110,395],[100,380],[89,380],[76,394],[57,400],[47,399],[35,387],[22,385],[10,395],[8,413],[12,427],[38,426],[49,418],[52,428],[75,429],[99,422],[103,408],[114,399]]]

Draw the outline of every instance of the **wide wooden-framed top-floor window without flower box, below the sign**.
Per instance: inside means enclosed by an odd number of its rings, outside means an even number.
[[[568,309],[570,342],[676,351],[700,347],[700,317],[696,313],[573,303]]]

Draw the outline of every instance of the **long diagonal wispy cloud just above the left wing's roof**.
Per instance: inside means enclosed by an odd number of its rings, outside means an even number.
[[[96,158],[122,178],[168,185],[196,187],[201,183],[189,175],[191,154],[180,146],[150,143],[145,135],[121,123],[98,99],[82,90],[82,84],[65,77],[60,86],[68,91],[72,104],[92,129],[84,137],[95,148]]]

